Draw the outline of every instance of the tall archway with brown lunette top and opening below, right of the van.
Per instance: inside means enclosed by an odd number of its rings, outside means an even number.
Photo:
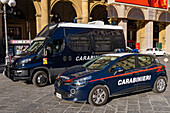
[[[137,48],[136,44],[143,46],[143,32],[145,16],[140,8],[132,8],[127,14],[127,45],[133,49]]]

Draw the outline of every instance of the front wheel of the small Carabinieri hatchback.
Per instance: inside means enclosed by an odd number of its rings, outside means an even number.
[[[88,102],[94,106],[101,106],[107,102],[107,99],[107,89],[102,85],[97,85],[90,91]]]

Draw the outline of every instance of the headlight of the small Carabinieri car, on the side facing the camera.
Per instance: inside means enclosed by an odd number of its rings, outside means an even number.
[[[82,85],[85,85],[89,80],[91,80],[91,76],[75,80],[74,82],[71,83],[71,85],[72,86],[82,86]]]

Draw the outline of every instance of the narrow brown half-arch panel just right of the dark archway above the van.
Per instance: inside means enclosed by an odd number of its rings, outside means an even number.
[[[108,5],[108,17],[118,17],[118,12],[116,10],[116,8],[113,5]]]

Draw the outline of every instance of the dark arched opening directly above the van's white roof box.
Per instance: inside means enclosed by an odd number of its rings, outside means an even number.
[[[90,14],[91,21],[95,20],[102,20],[105,24],[108,24],[108,18],[107,18],[107,10],[105,5],[97,5],[95,6]]]

